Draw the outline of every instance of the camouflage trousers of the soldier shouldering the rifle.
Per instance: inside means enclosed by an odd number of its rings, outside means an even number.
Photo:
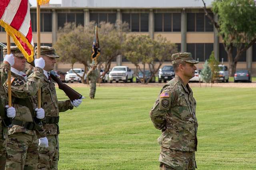
[[[38,170],[58,170],[59,139],[58,135],[47,135],[48,148],[39,147]]]

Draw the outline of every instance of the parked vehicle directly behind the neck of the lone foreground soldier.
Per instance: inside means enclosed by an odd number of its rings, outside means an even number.
[[[166,81],[172,80],[175,76],[174,70],[172,66],[164,66],[159,69],[158,72],[158,82],[162,82],[162,80],[166,83]]]

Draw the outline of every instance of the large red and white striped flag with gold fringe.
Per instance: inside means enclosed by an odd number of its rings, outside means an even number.
[[[0,25],[12,37],[28,62],[34,60],[34,43],[28,0],[0,0]]]

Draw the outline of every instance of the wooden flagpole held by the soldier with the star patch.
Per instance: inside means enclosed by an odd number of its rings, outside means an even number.
[[[37,26],[37,58],[40,58],[40,5],[36,3],[36,26]],[[38,109],[41,108],[41,88],[38,89]]]

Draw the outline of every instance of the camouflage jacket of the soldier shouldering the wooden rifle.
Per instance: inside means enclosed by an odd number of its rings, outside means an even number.
[[[58,101],[54,82],[52,80],[49,82],[45,75],[41,86],[41,106],[44,109],[45,117],[58,117],[59,112],[73,109],[70,100]],[[58,123],[45,123],[45,119],[43,119],[42,123],[46,134],[41,137],[60,133]]]

